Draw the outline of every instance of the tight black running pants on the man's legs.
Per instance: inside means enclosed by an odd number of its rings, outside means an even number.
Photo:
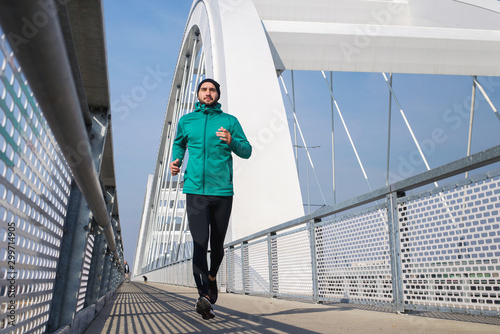
[[[224,258],[224,238],[233,196],[186,194],[189,230],[193,237],[193,275],[200,296],[208,295],[208,275],[215,277]],[[207,252],[210,237],[210,271]]]

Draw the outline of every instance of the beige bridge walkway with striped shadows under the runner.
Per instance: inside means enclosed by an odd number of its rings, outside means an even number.
[[[305,302],[222,293],[216,317],[194,311],[192,288],[124,283],[85,332],[89,333],[499,333],[500,319],[449,315],[458,320],[398,315],[348,304]],[[442,314],[437,316],[442,317]]]

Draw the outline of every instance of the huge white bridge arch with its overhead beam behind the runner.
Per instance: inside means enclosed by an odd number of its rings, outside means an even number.
[[[500,75],[500,2],[494,0],[194,1],[170,91],[136,268],[189,249],[181,182],[168,171],[177,120],[196,85],[222,86],[254,153],[235,161],[228,241],[304,214],[277,74],[284,70]],[[143,241],[141,241],[143,240]],[[139,271],[135,271],[138,273]]]

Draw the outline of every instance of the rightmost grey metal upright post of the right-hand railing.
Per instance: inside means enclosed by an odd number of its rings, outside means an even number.
[[[391,251],[393,309],[395,312],[403,312],[403,271],[401,263],[397,194],[395,192],[391,192],[387,197],[387,223],[389,229],[389,246]]]

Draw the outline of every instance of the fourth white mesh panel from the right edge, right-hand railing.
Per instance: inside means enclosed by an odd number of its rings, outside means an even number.
[[[245,272],[245,291],[269,293],[269,256],[267,239],[247,245],[248,266]]]

